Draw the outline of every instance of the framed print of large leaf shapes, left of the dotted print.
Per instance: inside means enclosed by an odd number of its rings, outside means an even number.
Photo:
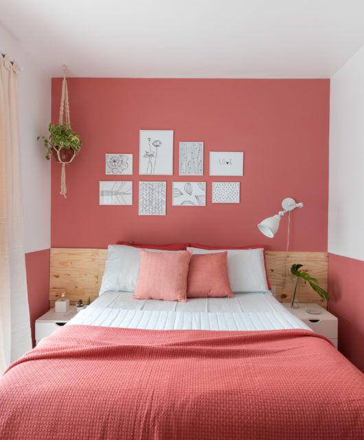
[[[172,206],[206,206],[206,182],[172,182]]]

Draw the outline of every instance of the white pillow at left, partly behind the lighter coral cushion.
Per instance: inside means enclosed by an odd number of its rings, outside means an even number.
[[[179,252],[147,249],[150,252]],[[99,295],[113,290],[135,292],[139,276],[140,249],[126,245],[109,245]]]

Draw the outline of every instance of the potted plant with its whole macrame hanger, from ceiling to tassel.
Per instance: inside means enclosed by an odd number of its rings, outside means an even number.
[[[63,112],[65,112],[65,122],[63,122]],[[60,98],[60,113],[58,124],[49,124],[49,137],[38,136],[37,140],[43,139],[46,148],[45,158],[49,160],[51,154],[54,155],[56,162],[62,164],[62,173],[60,177],[60,194],[66,197],[66,168],[71,164],[81,149],[82,142],[77,133],[71,129],[71,120],[69,118],[68,89],[66,80],[66,67],[63,66],[62,96]]]

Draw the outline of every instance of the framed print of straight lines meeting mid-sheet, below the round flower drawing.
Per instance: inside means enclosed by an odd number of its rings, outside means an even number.
[[[100,205],[133,205],[133,181],[100,181]]]

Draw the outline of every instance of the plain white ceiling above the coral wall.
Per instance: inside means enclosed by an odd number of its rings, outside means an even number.
[[[0,23],[50,76],[328,78],[364,0],[1,0]]]

